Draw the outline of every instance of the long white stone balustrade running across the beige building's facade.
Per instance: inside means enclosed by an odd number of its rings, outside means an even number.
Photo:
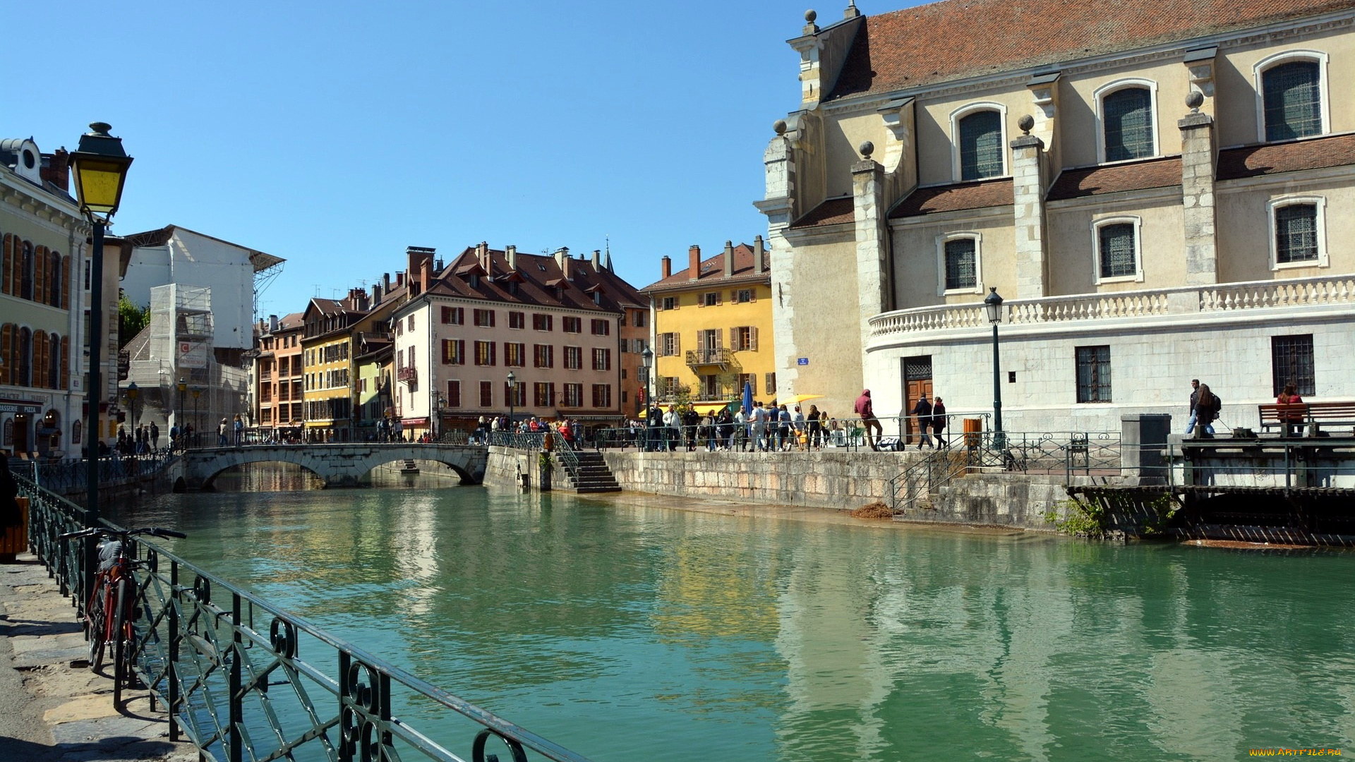
[[[1351,304],[1355,304],[1355,275],[1008,300],[1003,302],[1003,306],[1007,309],[1004,323],[1039,325],[1073,320],[1187,316],[1244,309]],[[982,302],[974,302],[919,306],[878,315],[870,320],[870,334],[871,336],[885,336],[917,331],[984,328],[986,325],[988,315]]]

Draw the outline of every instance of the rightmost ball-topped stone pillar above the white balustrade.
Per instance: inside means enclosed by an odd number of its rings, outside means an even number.
[[[1186,98],[1195,108],[1176,126],[1182,130],[1182,220],[1186,226],[1186,285],[1218,282],[1214,235],[1214,118],[1201,114],[1199,92]]]

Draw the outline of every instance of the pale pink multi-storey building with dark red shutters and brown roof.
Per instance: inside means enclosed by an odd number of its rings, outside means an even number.
[[[638,407],[646,316],[610,255],[470,247],[392,316],[397,415],[415,435],[474,428],[509,408],[518,419],[615,423]]]

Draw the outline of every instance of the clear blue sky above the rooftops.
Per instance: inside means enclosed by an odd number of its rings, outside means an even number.
[[[136,157],[112,232],[176,224],[286,258],[260,315],[371,283],[406,245],[610,236],[644,286],[665,254],[680,268],[690,244],[766,235],[752,202],[798,106],[785,41],[806,7],[56,1],[12,39],[27,64],[0,132],[50,152],[111,123]]]

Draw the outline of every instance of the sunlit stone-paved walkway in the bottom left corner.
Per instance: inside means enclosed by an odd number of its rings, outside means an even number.
[[[169,742],[144,690],[112,705],[112,681],[89,671],[70,599],[34,556],[0,565],[0,759],[15,762],[194,762]],[[104,667],[107,671],[111,667]],[[163,706],[157,706],[163,709]]]

